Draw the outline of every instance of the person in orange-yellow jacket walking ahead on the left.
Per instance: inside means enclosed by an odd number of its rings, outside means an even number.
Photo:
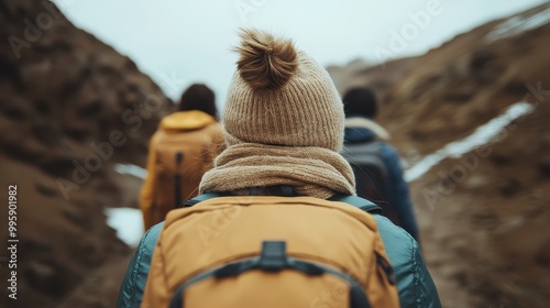
[[[217,117],[213,91],[195,84],[182,95],[177,111],[161,121],[151,139],[140,199],[145,230],[197,196],[200,178],[224,148]]]

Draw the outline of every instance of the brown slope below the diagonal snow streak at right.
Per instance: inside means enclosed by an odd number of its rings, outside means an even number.
[[[548,98],[550,99],[550,97]],[[550,301],[550,106],[501,138],[446,160],[411,191],[427,263],[444,307]]]

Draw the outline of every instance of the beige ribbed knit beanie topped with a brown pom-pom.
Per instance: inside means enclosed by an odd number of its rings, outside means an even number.
[[[339,151],[343,107],[328,73],[289,40],[243,30],[223,112],[229,145],[260,143]]]

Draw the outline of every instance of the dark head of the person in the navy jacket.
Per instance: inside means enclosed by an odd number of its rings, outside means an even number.
[[[343,97],[345,118],[376,118],[378,105],[376,96],[369,88],[352,88]]]

